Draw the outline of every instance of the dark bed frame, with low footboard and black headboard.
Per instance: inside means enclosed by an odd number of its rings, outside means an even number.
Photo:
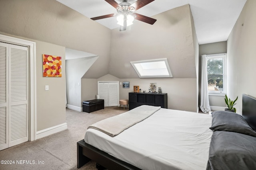
[[[254,127],[256,128],[256,98],[243,94],[242,101],[242,115],[254,129]],[[109,170],[140,170],[140,168],[85,143],[84,140],[77,142],[77,168],[82,167],[90,160],[94,160]]]

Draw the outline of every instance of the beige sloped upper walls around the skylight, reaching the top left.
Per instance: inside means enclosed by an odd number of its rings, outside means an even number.
[[[0,32],[98,55],[83,78],[112,74],[138,78],[130,61],[167,58],[174,78],[196,78],[189,5],[110,30],[55,0],[8,0],[0,5]],[[58,55],[58,54],[52,54]]]

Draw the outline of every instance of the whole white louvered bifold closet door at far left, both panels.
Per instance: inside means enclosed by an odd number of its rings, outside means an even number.
[[[0,150],[28,141],[28,47],[0,43]]]

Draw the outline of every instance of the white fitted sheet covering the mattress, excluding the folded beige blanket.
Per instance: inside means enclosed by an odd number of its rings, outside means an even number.
[[[211,115],[161,108],[115,137],[88,129],[84,141],[142,170],[205,170],[211,123]]]

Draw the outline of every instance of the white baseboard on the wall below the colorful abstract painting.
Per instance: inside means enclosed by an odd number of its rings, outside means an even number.
[[[64,131],[66,129],[68,129],[67,123],[62,123],[62,124],[56,125],[54,127],[49,127],[47,129],[36,132],[36,139],[40,139],[42,137],[46,137],[46,136],[52,135],[54,133]]]

